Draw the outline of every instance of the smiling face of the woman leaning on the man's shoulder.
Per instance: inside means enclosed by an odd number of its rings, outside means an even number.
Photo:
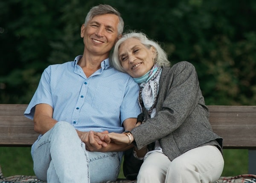
[[[155,48],[146,48],[139,39],[126,39],[118,52],[123,69],[133,78],[144,76],[154,66]]]

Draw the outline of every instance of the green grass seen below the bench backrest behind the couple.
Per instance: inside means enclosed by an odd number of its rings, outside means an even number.
[[[3,175],[35,175],[30,147],[0,147],[0,166]],[[221,176],[229,177],[248,173],[248,150],[224,149],[224,170]],[[123,178],[121,172],[119,178]]]

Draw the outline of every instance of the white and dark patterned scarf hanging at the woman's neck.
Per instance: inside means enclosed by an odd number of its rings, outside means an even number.
[[[156,107],[161,72],[162,68],[154,65],[149,73],[148,80],[140,84],[140,106],[145,107],[149,115]]]

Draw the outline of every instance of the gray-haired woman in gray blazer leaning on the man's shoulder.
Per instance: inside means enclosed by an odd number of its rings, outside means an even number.
[[[131,75],[141,88],[145,122],[131,132],[108,134],[117,144],[132,143],[135,157],[136,151],[145,154],[148,147],[137,182],[218,180],[224,166],[222,138],[210,126],[194,66],[179,62],[170,67],[160,45],[136,32],[116,42],[112,65]]]

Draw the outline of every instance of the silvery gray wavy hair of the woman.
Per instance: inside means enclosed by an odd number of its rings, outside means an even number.
[[[156,49],[157,56],[154,59],[154,64],[159,65],[160,67],[169,67],[171,63],[168,60],[166,52],[160,47],[160,45],[148,39],[148,37],[144,33],[130,32],[124,34],[117,42],[111,57],[111,65],[121,72],[125,72],[122,68],[121,62],[119,60],[119,47],[125,42],[127,39],[135,38],[138,39],[146,48],[154,47]]]

